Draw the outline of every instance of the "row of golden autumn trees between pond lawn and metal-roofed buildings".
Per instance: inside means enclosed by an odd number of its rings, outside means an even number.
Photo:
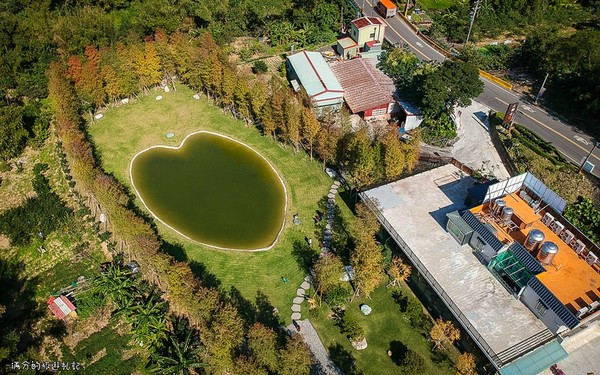
[[[146,92],[161,82],[175,88],[178,80],[294,151],[304,149],[311,158],[318,154],[324,165],[343,167],[358,185],[397,178],[412,170],[419,157],[418,136],[405,143],[390,129],[373,140],[366,126],[350,131],[348,116],[324,112],[317,119],[305,95],[292,92],[279,77],[239,71],[207,32],[190,37],[167,36],[158,30],[139,43],[88,46],[82,56],[68,57],[67,65],[87,111]]]

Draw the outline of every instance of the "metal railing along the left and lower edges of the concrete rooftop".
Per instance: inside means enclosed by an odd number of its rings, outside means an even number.
[[[479,334],[477,329],[471,324],[469,319],[463,314],[463,312],[456,306],[456,304],[452,301],[450,296],[446,294],[442,286],[437,282],[435,277],[428,271],[427,267],[419,260],[419,257],[412,251],[412,249],[404,242],[402,237],[396,232],[396,230],[392,227],[392,225],[387,221],[387,219],[383,216],[380,209],[377,205],[364,193],[359,193],[360,199],[373,211],[381,225],[385,228],[385,230],[390,234],[390,236],[396,241],[396,243],[400,246],[404,254],[410,259],[413,265],[419,270],[421,275],[425,277],[429,285],[433,288],[436,294],[440,297],[440,299],[444,302],[446,307],[452,312],[454,317],[460,322],[463,329],[467,331],[467,333],[471,336],[473,341],[479,346],[481,351],[485,354],[486,357],[490,360],[490,362],[497,368],[500,369],[505,364],[510,361],[522,356],[526,352],[532,350],[534,347],[538,347],[549,341],[548,334],[550,334],[550,338],[553,337],[552,333],[548,330],[544,330],[539,332],[538,334],[523,340],[517,345],[514,345],[511,348],[508,348],[501,353],[496,353],[485,341],[483,336]],[[527,350],[525,350],[527,349]]]

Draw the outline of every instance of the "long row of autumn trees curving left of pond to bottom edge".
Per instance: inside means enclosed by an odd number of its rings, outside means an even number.
[[[82,71],[86,63],[87,60]],[[260,323],[249,327],[227,297],[199,283],[187,263],[177,262],[161,251],[163,244],[152,226],[129,208],[123,187],[104,173],[94,159],[82,126],[77,95],[82,86],[76,89],[71,75],[67,64],[61,62],[53,62],[47,72],[56,131],[76,187],[90,205],[100,207],[107,215],[115,242],[129,259],[140,264],[144,279],[157,287],[170,312],[187,319],[197,330],[205,348],[201,361],[214,373],[308,374],[310,355],[299,337],[278,339],[275,331]],[[247,345],[252,342],[249,335],[260,338],[254,340],[254,349]],[[276,353],[276,361],[263,358],[265,352]]]

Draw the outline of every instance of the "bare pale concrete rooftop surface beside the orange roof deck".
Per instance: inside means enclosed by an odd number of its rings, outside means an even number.
[[[446,231],[446,213],[465,208],[473,183],[455,166],[445,165],[365,194],[379,202],[391,226],[498,354],[547,328],[508,293],[468,244],[459,245]]]

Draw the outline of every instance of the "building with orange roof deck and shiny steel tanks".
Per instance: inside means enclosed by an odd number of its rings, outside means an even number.
[[[489,186],[462,214],[490,271],[555,333],[600,315],[600,249],[562,216],[565,206],[525,173]]]

